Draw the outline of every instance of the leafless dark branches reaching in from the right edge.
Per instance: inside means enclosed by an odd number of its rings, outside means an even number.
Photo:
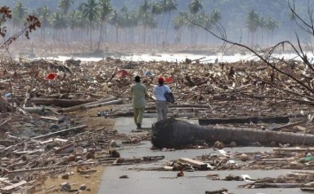
[[[291,11],[291,19],[294,19],[297,26],[302,29],[307,34],[311,36],[314,35],[314,8],[312,4],[308,4],[308,9],[306,14],[301,15],[295,6],[295,0],[288,0],[287,6]],[[255,96],[249,93],[238,91],[238,97],[258,97],[258,98],[280,98],[288,101],[296,101],[301,104],[311,104],[314,105],[314,67],[311,65],[310,58],[307,56],[307,52],[310,50],[313,52],[312,44],[310,39],[307,39],[305,43],[300,40],[300,35],[295,32],[296,45],[290,41],[283,41],[276,43],[272,47],[263,49],[256,47],[250,47],[244,43],[234,42],[228,39],[226,35],[226,30],[223,25],[219,22],[215,24],[215,28],[207,28],[201,24],[192,21],[187,17],[188,21],[197,27],[201,27],[207,32],[209,32],[214,37],[223,41],[222,48],[224,50],[229,49],[230,46],[237,46],[245,50],[249,50],[253,53],[260,61],[262,61],[265,66],[268,66],[268,76],[258,77],[257,75],[251,74],[253,78],[259,81],[264,81],[276,89],[282,95],[282,97],[277,96]],[[302,64],[298,63],[295,59],[285,59],[276,57],[275,53],[289,48],[293,50],[298,58],[301,59]],[[286,84],[285,84],[286,83]],[[235,91],[236,92],[236,91]],[[289,97],[287,97],[287,95]],[[286,96],[286,97],[284,97]]]

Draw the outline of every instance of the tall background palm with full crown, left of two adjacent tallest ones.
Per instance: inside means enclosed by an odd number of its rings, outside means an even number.
[[[99,17],[99,4],[97,4],[96,0],[88,0],[88,3],[80,4],[80,11],[83,13],[83,17],[87,18],[89,22],[89,46],[90,50],[92,50],[92,29],[93,24]]]

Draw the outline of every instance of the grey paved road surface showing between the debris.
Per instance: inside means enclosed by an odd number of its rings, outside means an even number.
[[[195,120],[190,120],[195,122]],[[120,133],[131,133],[134,123],[132,118],[120,118],[116,122],[116,129]],[[149,127],[155,119],[144,119],[143,126]],[[136,134],[134,134],[136,135]],[[248,182],[226,182],[212,181],[206,175],[218,174],[220,178],[226,175],[249,175],[251,178],[278,177],[287,172],[295,170],[249,170],[249,171],[195,171],[184,172],[184,176],[177,178],[177,172],[172,171],[149,171],[149,167],[162,167],[169,160],[179,158],[195,158],[202,154],[218,154],[212,149],[202,150],[182,150],[182,151],[152,151],[150,142],[142,142],[136,146],[126,146],[119,150],[122,157],[142,157],[142,156],[165,156],[165,159],[149,165],[130,165],[120,167],[106,167],[100,184],[98,194],[103,193],[127,193],[127,194],[195,194],[205,193],[205,190],[221,190],[226,188],[235,194],[257,194],[257,193],[303,193],[300,189],[239,189],[238,186]],[[226,148],[225,151],[272,151],[272,148],[264,147],[237,147],[234,149]],[[146,170],[138,170],[144,168]],[[299,170],[298,170],[299,171]],[[128,179],[119,179],[119,176],[127,175]]]

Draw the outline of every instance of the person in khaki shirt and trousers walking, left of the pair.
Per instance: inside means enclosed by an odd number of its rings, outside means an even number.
[[[144,113],[147,96],[146,86],[141,83],[141,77],[135,76],[135,83],[131,86],[132,105],[134,110],[134,122],[137,129],[142,129],[142,116]]]

